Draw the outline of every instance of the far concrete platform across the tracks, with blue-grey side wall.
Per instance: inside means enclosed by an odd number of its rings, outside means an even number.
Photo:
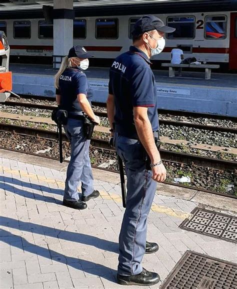
[[[10,64],[13,91],[21,94],[54,96],[50,65]],[[105,102],[108,93],[108,68],[89,67],[89,83],[94,87],[94,101]],[[204,71],[183,72],[181,77],[168,77],[168,70],[154,70],[159,108],[237,116],[237,75]]]

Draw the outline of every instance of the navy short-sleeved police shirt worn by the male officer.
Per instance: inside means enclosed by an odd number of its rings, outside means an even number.
[[[114,95],[115,131],[137,139],[133,107],[147,107],[152,131],[159,128],[154,74],[147,55],[135,46],[115,58],[109,70],[108,92]]]

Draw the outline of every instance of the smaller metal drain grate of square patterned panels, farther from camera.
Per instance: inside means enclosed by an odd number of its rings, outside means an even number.
[[[191,218],[185,219],[180,228],[204,235],[237,242],[237,218],[202,208],[194,208]]]

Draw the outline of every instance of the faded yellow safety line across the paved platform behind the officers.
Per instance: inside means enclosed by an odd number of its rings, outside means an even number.
[[[46,178],[45,176],[33,174],[33,173],[27,173],[23,170],[16,170],[16,169],[9,169],[8,167],[0,166],[0,168],[3,170],[3,173],[10,173],[13,175],[21,176],[21,177],[27,177],[30,179],[38,180],[38,181],[45,181],[47,183],[54,183],[58,186],[58,188],[64,188],[65,182],[53,178]],[[110,194],[106,191],[100,191],[100,196],[102,199],[112,199],[115,202],[120,202],[121,203],[121,196],[118,194]],[[182,210],[176,210],[170,207],[162,206],[162,205],[157,205],[157,204],[152,204],[151,210],[153,212],[162,212],[170,216],[175,216],[180,219],[185,219],[190,216],[189,213],[184,212]]]

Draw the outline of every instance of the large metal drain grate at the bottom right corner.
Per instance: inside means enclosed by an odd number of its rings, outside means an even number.
[[[160,289],[236,289],[237,264],[186,251]]]

